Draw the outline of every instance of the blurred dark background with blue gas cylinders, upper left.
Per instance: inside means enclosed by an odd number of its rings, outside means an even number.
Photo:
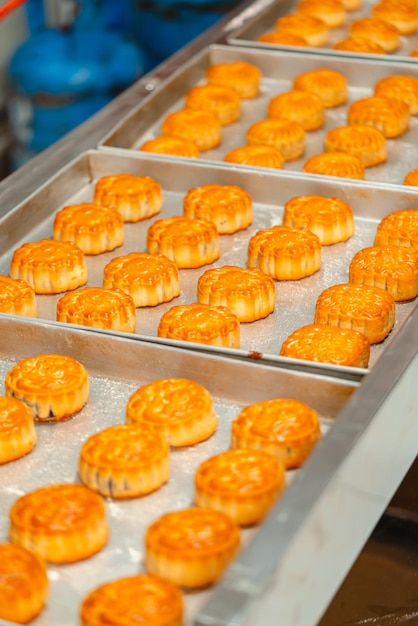
[[[215,24],[236,0],[0,0],[0,179]]]

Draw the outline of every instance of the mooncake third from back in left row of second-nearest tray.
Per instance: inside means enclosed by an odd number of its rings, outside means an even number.
[[[87,282],[84,252],[70,241],[24,243],[13,253],[10,276],[25,280],[38,294],[77,289]]]

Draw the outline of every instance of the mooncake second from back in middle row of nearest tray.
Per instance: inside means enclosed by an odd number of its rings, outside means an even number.
[[[167,439],[145,424],[117,424],[82,445],[78,473],[102,496],[134,498],[156,491],[169,478]]]

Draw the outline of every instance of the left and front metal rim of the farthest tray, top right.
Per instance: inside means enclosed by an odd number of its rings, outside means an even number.
[[[278,9],[283,5],[283,12],[278,11]],[[281,17],[285,13],[288,13],[296,6],[295,0],[276,0],[273,3],[269,3],[263,9],[259,10],[256,15],[252,18],[247,19],[244,24],[240,24],[232,30],[227,39],[226,43],[231,46],[248,46],[251,48],[260,48],[262,50],[276,50],[278,52],[294,52],[295,49],[299,50],[301,54],[308,54],[309,56],[314,57],[337,57],[337,58],[346,58],[352,61],[368,61],[370,57],[374,57],[374,55],[361,53],[361,52],[349,52],[349,51],[341,51],[334,50],[333,48],[315,48],[312,46],[304,46],[300,48],[295,48],[295,46],[287,46],[283,44],[269,44],[257,41],[253,37],[262,32],[267,32],[267,30],[274,29],[274,22]],[[376,55],[382,61],[391,63],[409,63],[412,66],[417,65],[417,59],[409,57],[400,53],[393,54],[379,54]]]

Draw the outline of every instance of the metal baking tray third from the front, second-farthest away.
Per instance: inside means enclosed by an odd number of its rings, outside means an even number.
[[[372,95],[374,84],[384,76],[395,73],[416,75],[416,66],[412,63],[388,64],[377,59],[363,59],[358,63],[348,58],[325,59],[299,52],[285,54],[277,50],[213,44],[193,56],[188,63],[183,64],[162,82],[157,81],[155,89],[151,74],[148,81],[151,95],[138,107],[131,109],[99,142],[99,147],[138,150],[144,141],[161,134],[161,123],[169,113],[184,107],[187,91],[192,86],[205,82],[205,71],[210,65],[231,61],[247,61],[261,69],[263,73],[261,94],[255,99],[242,101],[241,119],[223,127],[221,145],[213,150],[201,152],[200,160],[223,162],[229,150],[244,145],[247,128],[253,122],[266,117],[268,101],[276,94],[288,91],[296,75],[326,66],[346,76],[349,85],[348,103],[335,109],[326,109],[324,127],[306,133],[305,154],[284,165],[284,171],[297,172],[302,176],[305,175],[302,171],[305,161],[314,154],[323,152],[326,132],[336,126],[346,125],[347,106],[350,102]],[[414,117],[406,133],[396,139],[387,140],[387,162],[367,168],[366,181],[402,185],[405,174],[417,167],[417,143],[418,117]]]

